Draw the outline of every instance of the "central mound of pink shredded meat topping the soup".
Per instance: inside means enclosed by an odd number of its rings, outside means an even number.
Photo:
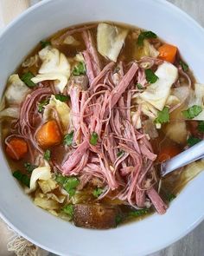
[[[61,171],[78,175],[83,184],[99,179],[106,187],[99,199],[114,191],[112,199],[124,200],[132,207],[145,207],[145,202],[151,201],[158,213],[164,213],[167,207],[153,188],[157,182],[153,164],[156,154],[143,130],[136,129],[131,121],[132,91],[136,82],[145,83],[143,69],[139,67],[141,62],[132,62],[131,66],[119,62],[118,71],[115,64],[109,62],[100,71],[91,34],[84,31],[83,35],[89,86],[84,90],[75,84],[68,92],[72,103],[73,141],[77,145],[67,154]],[[149,58],[145,61],[151,65],[156,62]],[[140,115],[138,108],[137,118]],[[96,145],[90,143],[93,132],[98,135]]]

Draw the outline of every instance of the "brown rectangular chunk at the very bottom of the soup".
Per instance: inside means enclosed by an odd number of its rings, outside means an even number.
[[[116,226],[118,207],[101,204],[74,205],[73,222],[76,226],[106,229]]]

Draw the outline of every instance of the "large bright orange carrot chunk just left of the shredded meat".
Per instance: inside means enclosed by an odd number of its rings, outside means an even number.
[[[41,148],[49,148],[61,143],[61,131],[56,121],[44,123],[36,134],[36,139]]]

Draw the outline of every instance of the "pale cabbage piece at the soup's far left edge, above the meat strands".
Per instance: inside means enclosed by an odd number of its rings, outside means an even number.
[[[28,95],[30,89],[19,78],[19,75],[10,75],[8,87],[5,91],[5,100],[9,105],[19,105],[22,100]]]

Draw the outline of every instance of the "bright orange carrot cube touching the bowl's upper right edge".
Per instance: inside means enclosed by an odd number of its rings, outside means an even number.
[[[177,48],[174,45],[164,43],[158,50],[160,59],[166,62],[175,62]]]

